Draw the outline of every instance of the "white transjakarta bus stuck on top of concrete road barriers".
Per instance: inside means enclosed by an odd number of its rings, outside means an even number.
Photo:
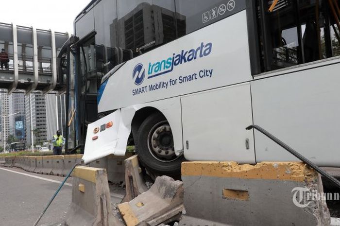
[[[161,174],[178,173],[184,159],[297,160],[245,129],[257,124],[319,166],[340,167],[339,7],[92,1],[75,19],[71,46],[85,162],[123,156],[129,138]]]

